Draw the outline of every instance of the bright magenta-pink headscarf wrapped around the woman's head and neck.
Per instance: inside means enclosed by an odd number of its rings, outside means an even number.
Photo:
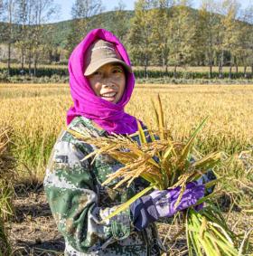
[[[135,86],[133,73],[126,72],[126,89],[117,104],[103,100],[96,96],[89,86],[88,79],[84,76],[84,56],[89,45],[102,39],[114,43],[124,62],[131,65],[126,49],[117,37],[104,29],[94,29],[77,45],[70,55],[70,93],[74,106],[67,112],[67,124],[77,116],[92,119],[101,128],[109,133],[132,134],[137,130],[136,118],[124,111],[126,103],[130,100]]]

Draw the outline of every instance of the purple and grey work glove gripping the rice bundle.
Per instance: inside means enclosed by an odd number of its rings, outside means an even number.
[[[190,182],[186,185],[180,203],[175,207],[180,190],[180,186],[167,190],[155,190],[131,204],[130,211],[136,230],[141,231],[149,223],[154,223],[159,218],[173,216],[173,214],[196,204],[204,195],[204,185]]]

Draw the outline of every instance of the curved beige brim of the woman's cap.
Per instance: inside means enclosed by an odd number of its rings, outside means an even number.
[[[84,75],[85,76],[92,75],[95,71],[98,71],[99,68],[101,68],[102,66],[104,66],[108,63],[120,63],[126,69],[126,71],[132,73],[132,68],[130,66],[128,66],[126,64],[126,62],[123,62],[116,58],[107,58],[107,59],[104,59],[101,61],[99,60],[99,62],[93,62],[93,63],[89,64],[86,71],[84,71]]]

